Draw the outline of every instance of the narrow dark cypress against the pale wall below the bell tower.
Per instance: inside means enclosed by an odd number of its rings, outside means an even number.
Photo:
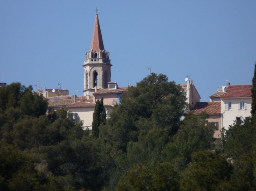
[[[92,134],[94,137],[99,137],[99,126],[101,123],[106,123],[106,110],[103,105],[103,98],[96,101],[95,109],[93,112],[93,130]]]

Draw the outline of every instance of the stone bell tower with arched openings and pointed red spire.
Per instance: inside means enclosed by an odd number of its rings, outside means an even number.
[[[83,64],[83,95],[94,93],[95,87],[108,88],[111,78],[109,52],[106,52],[101,36],[100,23],[96,13],[92,43],[89,52],[85,53]]]

